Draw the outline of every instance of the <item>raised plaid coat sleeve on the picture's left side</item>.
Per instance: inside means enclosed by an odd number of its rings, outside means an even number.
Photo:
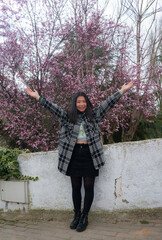
[[[61,121],[62,118],[67,116],[67,112],[65,110],[63,110],[57,104],[50,102],[46,98],[41,96],[39,98],[39,102],[45,109],[48,109],[49,112],[51,112],[53,115],[55,115],[59,121]]]

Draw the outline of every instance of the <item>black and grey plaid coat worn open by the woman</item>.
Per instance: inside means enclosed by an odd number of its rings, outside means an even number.
[[[77,136],[80,129],[81,122],[87,136],[89,150],[93,159],[95,169],[99,169],[104,165],[104,152],[100,138],[99,123],[104,118],[107,111],[113,107],[113,105],[120,99],[121,92],[117,91],[112,96],[108,97],[98,107],[92,110],[94,116],[94,123],[91,123],[85,113],[79,115],[79,119],[76,124],[70,123],[67,112],[48,101],[46,98],[40,97],[40,104],[54,114],[60,122],[60,134],[59,134],[59,161],[58,169],[61,173],[66,174],[67,168],[72,156],[72,152],[77,140]]]

